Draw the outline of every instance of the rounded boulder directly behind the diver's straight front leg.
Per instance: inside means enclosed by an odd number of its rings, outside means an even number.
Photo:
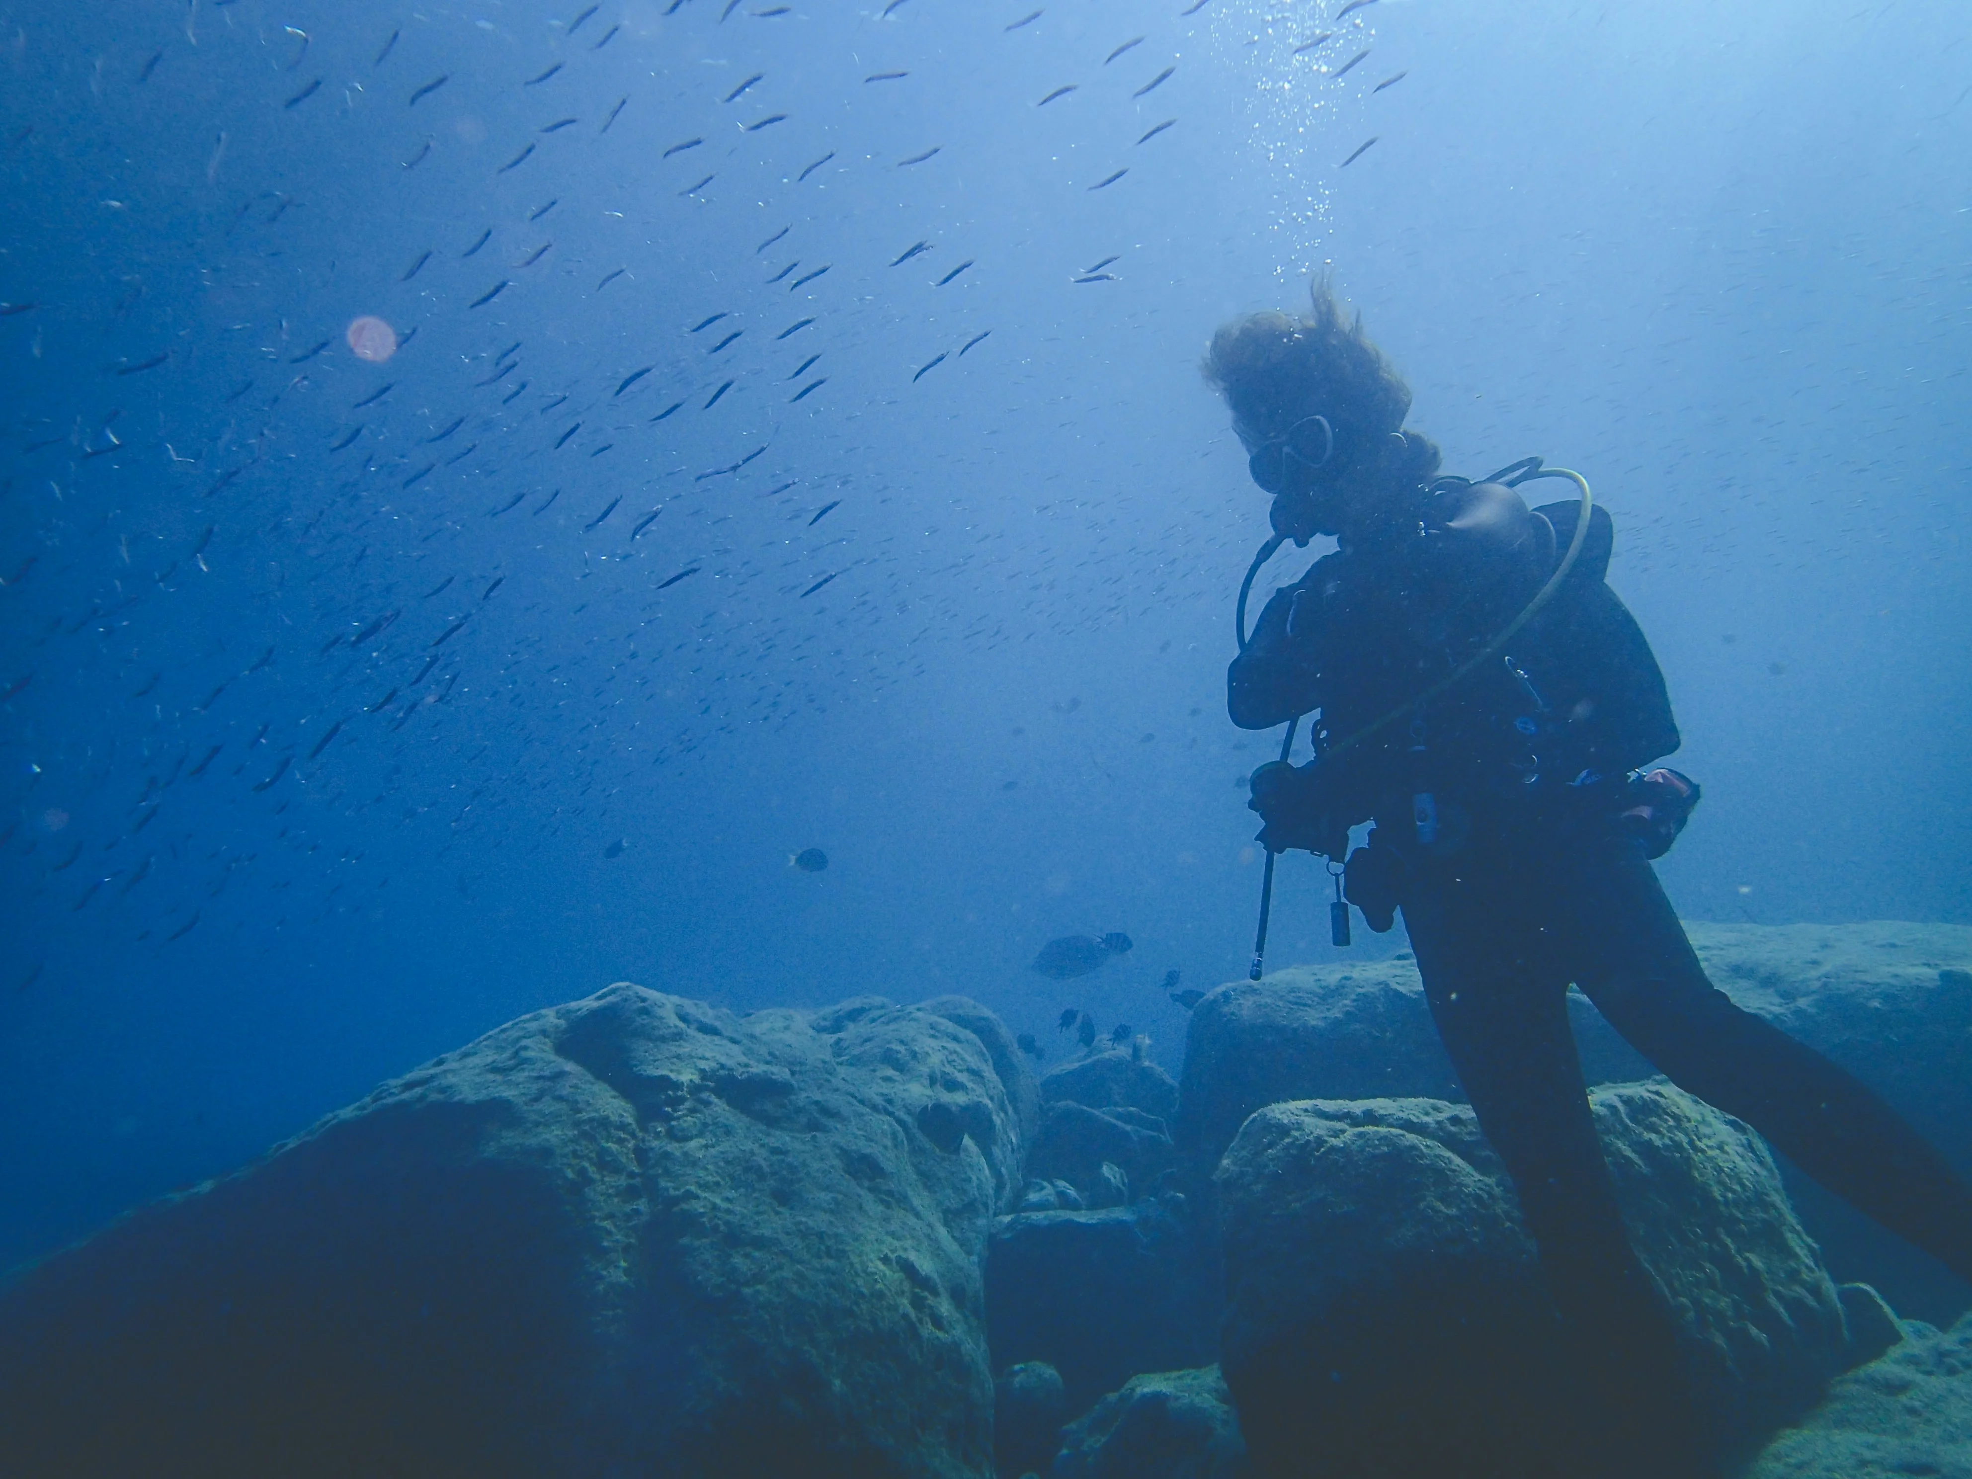
[[[1743,1444],[1846,1365],[1842,1305],[1751,1130],[1668,1085],[1593,1092],[1623,1217]],[[1560,1473],[1552,1305],[1505,1167],[1438,1100],[1274,1104],[1219,1167],[1227,1384],[1256,1471]],[[1319,1453],[1319,1467],[1309,1455]]]

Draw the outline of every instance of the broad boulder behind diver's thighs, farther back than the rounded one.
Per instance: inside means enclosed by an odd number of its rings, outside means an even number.
[[[1972,1175],[1972,927],[1686,925],[1712,980],[1828,1053]],[[1655,1071],[1570,992],[1589,1083]],[[1173,1140],[1209,1175],[1258,1108],[1298,1098],[1463,1100],[1408,954],[1292,966],[1197,1004]],[[1903,1313],[1946,1321],[1972,1290],[1783,1163],[1789,1195],[1842,1280],[1879,1288]]]

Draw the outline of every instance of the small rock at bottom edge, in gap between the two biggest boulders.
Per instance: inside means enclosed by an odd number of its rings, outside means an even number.
[[[1246,1442],[1219,1367],[1132,1376],[1061,1436],[1053,1479],[1238,1479]]]

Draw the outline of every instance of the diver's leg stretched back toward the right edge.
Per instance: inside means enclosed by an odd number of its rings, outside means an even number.
[[[1972,1185],[1846,1069],[1731,1004],[1698,962],[1656,874],[1623,848],[1574,874],[1578,984],[1670,1077],[1830,1191],[1972,1280]]]

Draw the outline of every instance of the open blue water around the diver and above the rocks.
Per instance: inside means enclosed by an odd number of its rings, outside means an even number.
[[[1315,272],[1613,511],[1688,917],[1972,921],[1960,6],[1031,8],[0,14],[0,1266],[619,978],[1175,1063],[1276,745],[1197,361]]]

